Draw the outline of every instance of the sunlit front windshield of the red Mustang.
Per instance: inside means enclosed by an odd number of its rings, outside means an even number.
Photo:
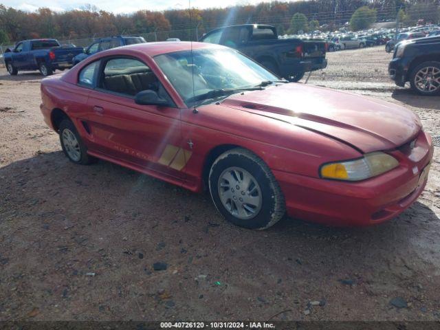
[[[186,104],[202,94],[209,95],[210,91],[243,89],[278,80],[254,61],[230,49],[193,50],[192,56],[189,50],[162,54],[155,56],[155,61]]]

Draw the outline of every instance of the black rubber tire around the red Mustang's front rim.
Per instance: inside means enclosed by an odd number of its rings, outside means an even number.
[[[222,174],[228,173],[230,168],[239,168],[247,171],[258,183],[259,193],[261,192],[261,207],[255,214],[252,214],[252,219],[236,217],[221,201],[219,181]],[[234,148],[226,151],[215,160],[209,174],[209,189],[212,201],[214,201],[214,205],[223,217],[234,223],[234,225],[243,228],[263,230],[277,223],[285,214],[283,192],[281,192],[281,188],[270,168],[263,162],[263,159],[244,148]],[[245,195],[245,190],[249,192],[249,190],[253,189],[248,186],[246,188],[237,188],[235,191],[232,188],[230,190],[240,197]],[[232,202],[232,199],[230,201]]]

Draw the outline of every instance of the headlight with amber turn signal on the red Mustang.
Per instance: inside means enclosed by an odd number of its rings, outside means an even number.
[[[386,153],[368,153],[364,157],[347,162],[335,162],[321,166],[321,177],[347,181],[360,181],[388,172],[399,165],[395,157]]]

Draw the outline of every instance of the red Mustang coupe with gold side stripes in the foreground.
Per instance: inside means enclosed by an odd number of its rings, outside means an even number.
[[[391,219],[423,191],[433,153],[411,111],[287,83],[219,45],[115,48],[45,78],[41,92],[72,162],[208,188],[245,228],[286,212],[328,225]]]

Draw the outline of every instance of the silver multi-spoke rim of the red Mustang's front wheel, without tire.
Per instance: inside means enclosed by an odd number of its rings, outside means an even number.
[[[221,203],[234,217],[252,219],[263,205],[261,188],[256,179],[240,167],[226,168],[219,177]]]

